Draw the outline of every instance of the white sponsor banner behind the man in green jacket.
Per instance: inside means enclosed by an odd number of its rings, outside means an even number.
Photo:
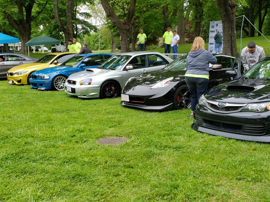
[[[220,53],[223,52],[223,31],[222,31],[222,21],[211,21],[209,28],[209,46],[208,51],[211,53],[215,52],[215,40],[214,37],[216,35],[216,31],[219,30],[219,33],[222,36],[222,47]]]

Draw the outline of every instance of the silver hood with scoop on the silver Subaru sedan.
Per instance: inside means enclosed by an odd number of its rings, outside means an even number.
[[[115,72],[115,70],[98,69],[98,68],[87,68],[85,71],[76,72],[74,74],[71,74],[68,77],[68,80],[81,81],[82,79],[88,79],[88,78],[90,78],[90,76],[92,78],[93,76],[105,74],[105,73],[108,73],[108,72]]]

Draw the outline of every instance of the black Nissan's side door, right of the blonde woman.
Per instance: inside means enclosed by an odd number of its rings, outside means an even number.
[[[209,68],[209,84],[208,88],[213,88],[216,85],[219,85],[220,83],[224,83],[228,81],[228,78],[226,76],[226,71],[232,69],[233,61],[231,57],[217,55],[215,56],[217,58],[216,64],[221,64],[221,69],[212,69]]]

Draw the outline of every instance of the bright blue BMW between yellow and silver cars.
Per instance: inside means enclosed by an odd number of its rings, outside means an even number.
[[[45,68],[32,73],[30,78],[31,88],[62,91],[64,89],[64,83],[70,74],[83,71],[86,68],[97,68],[111,56],[113,54],[109,53],[91,53],[73,56],[60,66]]]

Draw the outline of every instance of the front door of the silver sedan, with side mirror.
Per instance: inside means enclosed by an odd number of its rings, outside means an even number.
[[[126,66],[132,66],[133,69],[127,70],[126,67],[123,70],[123,83],[124,86],[126,81],[130,77],[135,77],[139,74],[146,73],[150,71],[150,67],[148,64],[147,55],[134,56],[129,60]]]

